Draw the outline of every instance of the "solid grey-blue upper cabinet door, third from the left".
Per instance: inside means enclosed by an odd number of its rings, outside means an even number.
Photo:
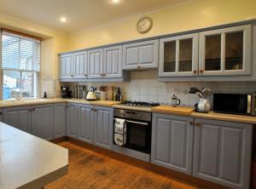
[[[88,51],[88,78],[102,78],[103,49]]]

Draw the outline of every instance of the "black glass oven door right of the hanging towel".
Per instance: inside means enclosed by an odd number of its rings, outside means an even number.
[[[151,123],[126,119],[125,147],[139,152],[151,152]]]

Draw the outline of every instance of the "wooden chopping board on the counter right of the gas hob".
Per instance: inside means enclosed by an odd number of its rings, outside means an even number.
[[[182,114],[182,115],[190,115],[194,108],[191,107],[173,107],[173,106],[155,106],[151,108],[152,112],[160,112],[160,113],[174,113],[174,114]]]

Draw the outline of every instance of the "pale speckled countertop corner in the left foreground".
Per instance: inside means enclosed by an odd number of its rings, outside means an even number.
[[[0,188],[39,189],[67,174],[68,150],[0,123]]]

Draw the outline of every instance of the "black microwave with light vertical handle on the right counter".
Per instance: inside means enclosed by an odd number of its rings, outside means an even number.
[[[256,116],[256,94],[213,94],[213,112]]]

